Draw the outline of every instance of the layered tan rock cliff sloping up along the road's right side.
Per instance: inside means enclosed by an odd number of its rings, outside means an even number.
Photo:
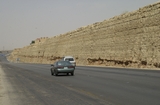
[[[53,63],[74,56],[79,65],[160,67],[160,3],[47,38],[8,58]]]

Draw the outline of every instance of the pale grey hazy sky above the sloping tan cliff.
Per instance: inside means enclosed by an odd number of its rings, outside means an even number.
[[[0,50],[28,46],[158,0],[0,0]]]

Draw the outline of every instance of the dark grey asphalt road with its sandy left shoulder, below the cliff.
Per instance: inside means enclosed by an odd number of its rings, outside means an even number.
[[[51,76],[48,64],[9,63],[0,55],[2,105],[160,105],[160,71],[77,66]]]

